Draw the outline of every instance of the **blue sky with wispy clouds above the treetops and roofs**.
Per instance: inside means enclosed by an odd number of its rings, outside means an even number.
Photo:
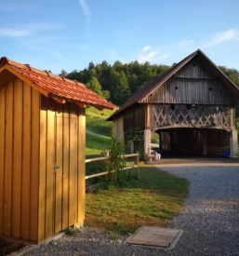
[[[178,62],[197,48],[239,69],[238,0],[0,0],[0,55],[72,72],[89,61]]]

